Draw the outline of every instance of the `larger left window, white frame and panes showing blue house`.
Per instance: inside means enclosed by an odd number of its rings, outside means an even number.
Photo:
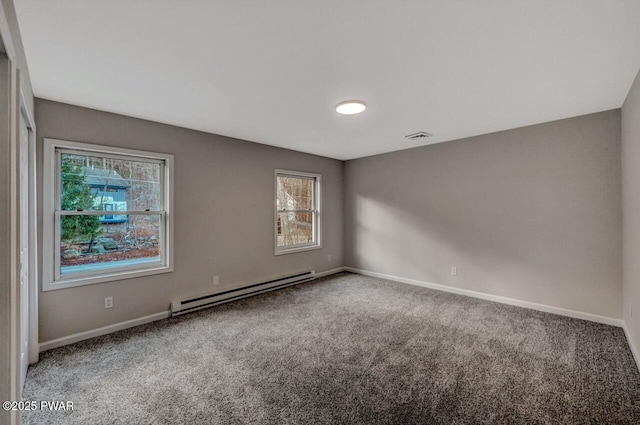
[[[44,161],[44,290],[172,270],[172,155],[45,139]]]

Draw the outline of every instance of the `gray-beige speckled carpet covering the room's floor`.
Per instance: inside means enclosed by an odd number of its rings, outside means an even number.
[[[50,350],[25,424],[639,424],[622,329],[343,273]]]

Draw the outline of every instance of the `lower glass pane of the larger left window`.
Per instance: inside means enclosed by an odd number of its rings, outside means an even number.
[[[60,217],[62,276],[161,260],[159,214],[131,214],[117,223],[103,222],[101,217]]]

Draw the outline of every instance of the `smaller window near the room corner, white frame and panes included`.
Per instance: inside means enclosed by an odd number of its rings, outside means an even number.
[[[276,255],[320,248],[319,174],[275,171]]]

